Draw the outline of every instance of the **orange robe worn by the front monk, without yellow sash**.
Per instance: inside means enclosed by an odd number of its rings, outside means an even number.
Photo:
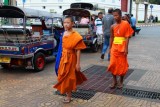
[[[69,36],[62,39],[62,57],[58,69],[58,83],[54,86],[61,94],[76,91],[77,85],[86,81],[82,72],[76,71],[76,50],[85,49],[82,36],[73,31]]]

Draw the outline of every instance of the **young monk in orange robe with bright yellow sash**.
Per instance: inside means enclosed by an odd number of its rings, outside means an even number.
[[[108,66],[108,71],[112,73],[113,83],[110,88],[122,88],[123,78],[128,71],[128,44],[129,37],[132,35],[133,30],[127,21],[122,20],[122,12],[120,9],[113,11],[113,16],[116,21],[111,27],[110,38],[110,53],[111,60]],[[117,82],[117,76],[120,76],[119,82]]]

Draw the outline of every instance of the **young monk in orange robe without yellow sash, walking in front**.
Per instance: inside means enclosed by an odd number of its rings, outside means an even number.
[[[62,38],[62,55],[58,68],[58,83],[54,88],[61,94],[66,94],[64,103],[71,101],[71,92],[76,91],[76,86],[86,81],[86,77],[80,72],[80,53],[86,46],[82,36],[72,29],[73,18],[67,16],[64,19],[65,32]]]

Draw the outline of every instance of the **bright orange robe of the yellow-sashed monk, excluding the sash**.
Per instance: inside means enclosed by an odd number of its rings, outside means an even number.
[[[129,38],[133,33],[131,26],[127,21],[122,21],[120,24],[116,24],[113,27],[113,35],[115,37]],[[113,40],[114,41],[114,40]],[[128,71],[127,55],[124,55],[126,46],[126,40],[122,44],[112,43],[111,58],[108,66],[108,71],[114,75],[124,76]]]

